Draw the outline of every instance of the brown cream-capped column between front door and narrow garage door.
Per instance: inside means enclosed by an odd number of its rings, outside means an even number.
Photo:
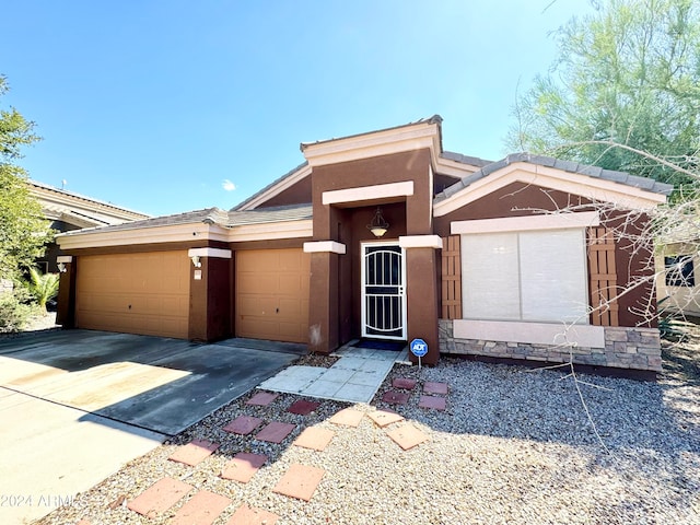
[[[338,257],[346,246],[335,241],[304,243],[311,254],[308,349],[330,353],[340,340]]]

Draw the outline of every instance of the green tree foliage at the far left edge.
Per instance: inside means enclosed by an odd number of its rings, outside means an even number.
[[[7,80],[0,75],[0,96],[7,91]],[[34,122],[13,107],[0,109],[0,278],[16,279],[51,238],[40,206],[30,195],[27,175],[15,164],[22,147],[37,140]]]

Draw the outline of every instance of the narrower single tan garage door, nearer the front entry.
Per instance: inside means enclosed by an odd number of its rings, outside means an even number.
[[[236,252],[236,336],[306,342],[310,273],[301,248]]]

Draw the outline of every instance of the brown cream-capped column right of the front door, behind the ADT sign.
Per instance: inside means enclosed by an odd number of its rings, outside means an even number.
[[[411,235],[399,237],[406,249],[406,304],[408,341],[423,339],[428,343],[424,364],[436,364],[440,359],[438,336],[438,257],[442,247],[438,235]],[[411,362],[418,358],[409,353]]]

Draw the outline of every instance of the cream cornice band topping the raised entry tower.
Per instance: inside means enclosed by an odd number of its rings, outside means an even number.
[[[303,144],[302,151],[308,165],[313,167],[424,148],[430,148],[438,154],[441,151],[440,127],[435,122],[421,122],[345,139]]]

